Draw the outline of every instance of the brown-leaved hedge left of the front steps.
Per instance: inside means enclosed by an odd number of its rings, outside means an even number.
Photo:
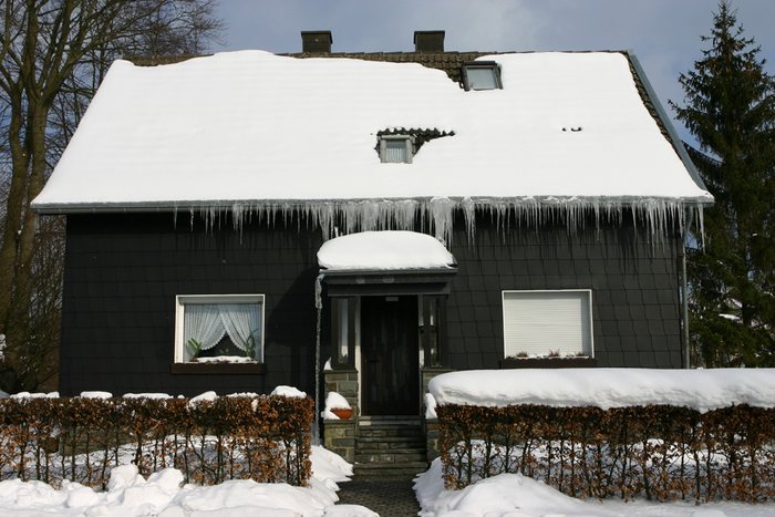
[[[304,485],[311,474],[311,399],[0,400],[0,479],[105,486],[131,458],[147,475],[183,471],[186,483],[226,479]],[[126,461],[124,461],[126,463]]]

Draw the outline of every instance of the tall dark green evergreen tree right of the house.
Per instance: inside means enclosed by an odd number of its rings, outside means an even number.
[[[704,247],[689,254],[694,362],[773,366],[775,82],[726,0],[702,40],[710,48],[679,79],[685,106],[671,103],[700,145],[690,154],[715,197],[696,236]]]

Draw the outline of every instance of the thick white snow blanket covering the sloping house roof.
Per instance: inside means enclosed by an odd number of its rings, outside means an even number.
[[[482,59],[499,63],[503,90],[466,92],[416,63],[262,51],[116,61],[34,205],[711,199],[644,107],[626,55]],[[401,127],[455,134],[412,164],[380,163],[378,132]]]

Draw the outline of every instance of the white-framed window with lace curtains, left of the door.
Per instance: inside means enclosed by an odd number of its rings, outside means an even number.
[[[176,363],[264,362],[264,294],[186,294],[176,303]]]

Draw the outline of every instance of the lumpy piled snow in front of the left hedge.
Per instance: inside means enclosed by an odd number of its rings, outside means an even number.
[[[78,483],[63,482],[60,489],[41,482],[19,479],[0,483],[0,515],[3,516],[208,516],[230,517],[374,517],[368,508],[334,506],[339,482],[348,480],[352,467],[322,447],[312,447],[313,477],[309,486],[229,480],[215,486],[183,485],[183,474],[165,468],[148,476],[134,465],[111,473],[107,490],[95,492]]]

